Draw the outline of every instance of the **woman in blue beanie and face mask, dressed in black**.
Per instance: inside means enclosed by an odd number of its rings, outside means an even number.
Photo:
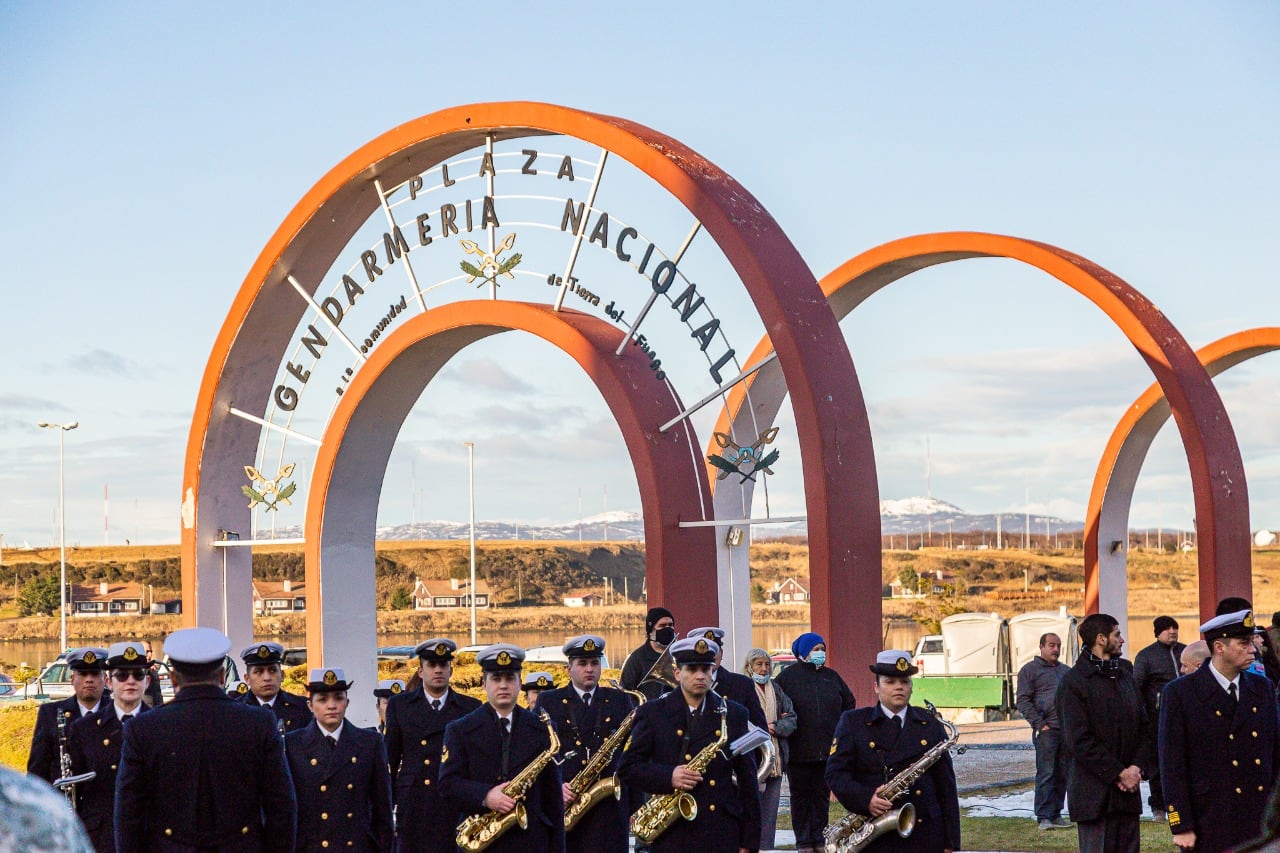
[[[796,730],[790,739],[787,783],[791,788],[791,826],[796,853],[823,848],[831,790],[827,788],[827,756],[840,715],[856,707],[852,692],[840,674],[827,666],[827,642],[806,631],[791,643],[796,662],[776,679],[791,697]]]

